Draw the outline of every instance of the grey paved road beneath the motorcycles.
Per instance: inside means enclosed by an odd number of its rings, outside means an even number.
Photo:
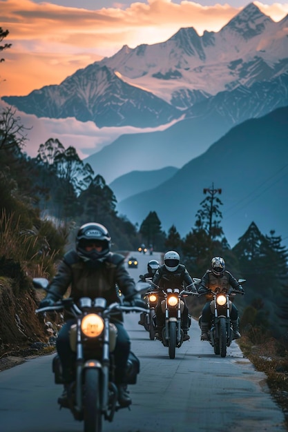
[[[139,272],[137,271],[139,270]],[[142,269],[131,269],[139,276]],[[135,279],[137,279],[135,277]],[[104,423],[104,432],[284,432],[284,415],[269,394],[265,374],[244,359],[236,342],[227,357],[200,342],[193,320],[191,340],[169,359],[168,348],[151,341],[126,315],[132,348],[141,362],[137,384],[130,386],[133,404]],[[52,356],[28,360],[0,373],[1,432],[81,432],[67,410],[59,411],[61,386],[53,382]]]

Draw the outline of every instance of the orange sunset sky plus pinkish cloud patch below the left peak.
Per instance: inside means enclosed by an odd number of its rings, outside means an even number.
[[[0,63],[0,97],[28,95],[43,86],[60,84],[79,68],[111,57],[125,44],[135,48],[141,43],[163,42],[182,27],[193,27],[199,35],[204,30],[217,32],[249,3],[0,0],[0,26],[9,30],[0,44],[12,43],[11,48],[1,52],[5,61]],[[254,3],[274,21],[288,14],[288,3],[284,1]],[[115,128],[115,134],[113,130],[105,134],[93,124],[85,126],[73,119],[39,121],[35,116],[23,114],[21,119],[32,127],[26,149],[32,156],[36,146],[55,137],[52,136],[55,133],[64,147],[74,145],[79,156],[85,157],[124,132],[137,132],[135,128]]]

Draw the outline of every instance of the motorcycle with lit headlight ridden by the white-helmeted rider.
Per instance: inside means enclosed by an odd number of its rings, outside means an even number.
[[[157,291],[151,291],[149,295],[159,296],[159,291],[162,291],[164,300],[161,301],[162,312],[165,315],[165,325],[162,328],[162,344],[168,347],[169,358],[175,358],[175,349],[180,348],[183,343],[184,332],[181,328],[182,313],[184,310],[184,297],[187,295],[198,295],[186,291],[184,288],[166,288],[163,290],[160,286],[150,282]],[[188,287],[186,287],[188,288]],[[189,326],[191,325],[191,316],[189,315]],[[156,315],[153,316],[154,329],[157,326]]]

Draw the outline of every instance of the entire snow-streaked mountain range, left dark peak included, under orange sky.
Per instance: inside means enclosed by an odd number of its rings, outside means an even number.
[[[191,117],[191,106],[219,92],[287,72],[287,21],[276,23],[251,3],[220,32],[199,36],[182,28],[163,43],[124,46],[59,86],[2,99],[37,117],[75,117],[99,127],[168,124]]]

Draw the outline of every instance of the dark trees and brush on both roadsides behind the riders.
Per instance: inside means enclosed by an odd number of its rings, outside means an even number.
[[[99,222],[111,234],[113,251],[134,251],[142,242],[153,244],[155,251],[173,249],[192,277],[202,277],[211,257],[224,257],[227,270],[247,280],[246,295],[237,300],[241,327],[249,328],[251,337],[267,331],[286,337],[288,252],[273,227],[268,235],[262,234],[251,221],[231,248],[222,230],[222,202],[216,189],[205,190],[195,224],[184,238],[176,226],[165,233],[153,209],[133,225],[118,215],[113,190],[75,148],[65,149],[58,139],[50,138],[31,158],[23,151],[26,132],[12,107],[1,112],[0,263],[4,257],[14,259],[23,274],[50,278],[61,256],[73,247],[79,226]],[[201,304],[199,300],[195,315]]]

